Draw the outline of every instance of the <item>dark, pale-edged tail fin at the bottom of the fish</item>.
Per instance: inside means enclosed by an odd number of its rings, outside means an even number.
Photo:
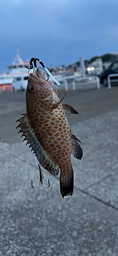
[[[60,174],[60,192],[63,198],[72,196],[74,191],[74,171],[71,168],[66,173],[61,170]]]

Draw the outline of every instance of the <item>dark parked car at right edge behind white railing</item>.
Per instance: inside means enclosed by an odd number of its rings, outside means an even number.
[[[115,60],[111,63],[108,69],[104,70],[100,75],[100,83],[103,83],[104,86],[108,86],[107,84],[107,76],[109,74],[117,73],[117,77],[112,77],[112,79],[118,79],[118,60]]]

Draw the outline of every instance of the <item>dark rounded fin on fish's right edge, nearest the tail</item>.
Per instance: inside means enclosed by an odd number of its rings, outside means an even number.
[[[75,158],[81,160],[83,156],[83,150],[78,142],[81,143],[81,141],[72,134],[72,154]]]

